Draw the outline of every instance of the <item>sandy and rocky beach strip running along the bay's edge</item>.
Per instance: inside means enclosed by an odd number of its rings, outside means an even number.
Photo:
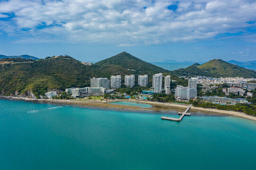
[[[107,107],[107,108],[118,108],[118,109],[129,109],[129,110],[177,110],[183,111],[189,105],[188,104],[176,104],[176,103],[164,103],[164,102],[151,102],[151,101],[140,101],[132,99],[115,99],[115,100],[58,100],[58,99],[31,99],[25,97],[12,97],[12,96],[0,96],[4,99],[15,99],[31,102],[48,102],[48,103],[62,103],[62,104],[74,104],[74,105],[84,105],[84,106],[95,106],[95,107]],[[128,105],[119,105],[119,104],[110,104],[109,102],[118,102],[118,101],[129,101],[129,102],[141,102],[146,104],[151,104],[150,108],[142,108],[139,106],[128,106]],[[230,115],[236,117],[242,117],[250,120],[255,120],[255,116],[247,115],[242,112],[231,111],[231,110],[218,110],[218,109],[206,109],[202,107],[191,106],[190,110],[195,111],[199,110],[205,114],[221,114],[221,115]]]

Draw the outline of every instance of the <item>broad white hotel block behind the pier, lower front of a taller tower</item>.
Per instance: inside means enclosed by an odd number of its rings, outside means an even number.
[[[175,96],[178,100],[196,98],[196,89],[194,87],[183,87],[182,85],[177,85],[175,89]]]

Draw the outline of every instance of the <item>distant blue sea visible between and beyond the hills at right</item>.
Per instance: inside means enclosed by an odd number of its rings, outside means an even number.
[[[191,66],[194,63],[184,63],[184,62],[177,62],[177,63],[168,63],[168,62],[150,62],[151,64],[154,64],[158,67],[167,69],[167,70],[176,70],[179,68],[186,68],[188,66]],[[199,64],[203,64],[204,62],[198,62]],[[251,69],[256,71],[256,65],[238,65],[239,67]]]

